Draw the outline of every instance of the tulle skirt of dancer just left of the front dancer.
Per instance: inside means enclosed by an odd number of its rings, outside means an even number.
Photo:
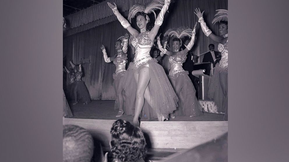
[[[134,100],[131,100],[130,96],[126,93],[126,89],[124,88],[124,84],[129,83],[131,80],[130,75],[133,75],[133,74],[127,74],[127,71],[121,72],[117,75],[114,73],[112,75],[112,78],[114,79],[113,83],[112,83],[114,86],[114,89],[117,90],[117,87],[121,86],[121,89],[124,90],[122,92],[122,97],[124,98],[123,109],[124,109],[124,114],[126,114],[126,115],[134,115],[134,105],[133,105]],[[130,87],[130,88],[136,89],[136,87]],[[119,102],[118,102],[117,96],[115,98],[114,109],[115,110],[119,109]]]

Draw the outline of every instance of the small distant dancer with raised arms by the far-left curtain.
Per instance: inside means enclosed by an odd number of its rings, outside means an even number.
[[[83,74],[81,64],[77,66],[75,66],[72,62],[70,62],[70,64],[73,67],[74,72],[75,72],[75,87],[73,90],[75,102],[73,102],[73,105],[77,104],[79,100],[83,102],[83,104],[88,104],[91,102],[91,100],[90,100],[89,92],[84,82],[81,80],[81,77]]]

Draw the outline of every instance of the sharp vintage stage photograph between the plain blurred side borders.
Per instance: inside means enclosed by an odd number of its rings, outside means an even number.
[[[228,161],[228,0],[64,0],[63,92],[63,161]]]

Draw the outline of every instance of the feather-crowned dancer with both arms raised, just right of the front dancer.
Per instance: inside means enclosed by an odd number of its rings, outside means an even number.
[[[188,54],[188,51],[190,51],[194,45],[196,25],[193,30],[190,28],[172,28],[165,32],[165,37],[175,37],[172,39],[172,47],[174,51],[168,51],[167,49],[163,48],[161,45],[160,37],[157,37],[158,48],[162,52],[162,55],[166,54],[170,56],[169,79],[179,98],[179,107],[175,113],[171,114],[171,118],[175,118],[175,115],[193,117],[203,114],[200,108],[200,103],[198,102],[195,95],[196,90],[188,76],[189,73],[182,67],[183,63],[186,61],[186,55]],[[181,39],[187,36],[191,37],[191,41],[188,43],[184,50],[180,51],[182,44]]]

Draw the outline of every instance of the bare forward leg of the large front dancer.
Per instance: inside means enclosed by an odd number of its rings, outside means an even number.
[[[145,100],[145,90],[149,84],[149,68],[144,67],[140,70],[138,74],[138,87],[136,92],[136,101],[135,101],[135,116],[133,117],[133,125],[138,125],[138,118],[142,111]]]

